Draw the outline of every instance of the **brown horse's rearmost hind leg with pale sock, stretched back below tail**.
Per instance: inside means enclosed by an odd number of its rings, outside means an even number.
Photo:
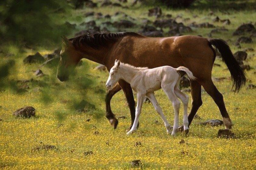
[[[223,96],[218,91],[218,89],[215,87],[215,85],[213,84],[212,79],[209,78],[209,79],[205,80],[202,83],[202,86],[204,87],[205,91],[212,97],[214,102],[219,107],[219,110],[220,110],[220,113],[223,117],[223,122],[224,122],[224,125],[225,125],[226,129],[231,129],[233,124],[232,124],[232,122],[229,118],[229,114],[226,110],[224,100],[223,100]]]

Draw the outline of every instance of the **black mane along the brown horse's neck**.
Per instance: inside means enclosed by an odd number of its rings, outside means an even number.
[[[121,32],[121,33],[95,33],[93,35],[84,34],[75,38],[69,39],[73,46],[79,47],[81,44],[87,44],[90,47],[97,48],[105,46],[109,42],[116,42],[118,38],[124,36],[141,36],[140,34],[133,32]]]

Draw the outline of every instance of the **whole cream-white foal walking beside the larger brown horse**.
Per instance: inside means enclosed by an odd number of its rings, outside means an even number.
[[[120,79],[130,83],[132,89],[137,92],[137,107],[135,112],[135,120],[131,130],[127,134],[131,134],[137,129],[141,107],[145,96],[151,101],[157,113],[164,121],[167,134],[176,134],[179,128],[179,110],[180,100],[184,106],[183,126],[184,131],[188,133],[188,95],[184,94],[179,89],[181,75],[187,73],[190,80],[195,80],[192,72],[185,67],[172,68],[170,66],[162,66],[157,68],[138,68],[129,64],[121,63],[119,60],[115,61],[115,65],[109,71],[109,77],[106,83],[107,88],[113,87]],[[154,92],[162,88],[169,100],[172,102],[174,108],[174,125],[171,132],[171,126],[166,120],[161,107],[159,106]]]

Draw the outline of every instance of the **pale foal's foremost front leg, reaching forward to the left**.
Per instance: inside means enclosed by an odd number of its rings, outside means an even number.
[[[135,111],[135,120],[133,122],[133,126],[132,126],[131,130],[129,132],[127,132],[127,135],[131,134],[131,133],[133,133],[133,131],[137,130],[137,125],[139,122],[141,107],[142,107],[144,98],[145,98],[145,94],[141,94],[140,92],[137,93],[137,107],[136,107],[136,111]]]

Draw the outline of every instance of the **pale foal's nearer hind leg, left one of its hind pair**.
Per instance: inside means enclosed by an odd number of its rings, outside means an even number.
[[[174,108],[174,124],[172,129],[172,136],[174,136],[179,130],[180,101],[174,93],[174,85],[162,85],[162,89],[168,96],[169,100],[172,102],[172,106]]]

